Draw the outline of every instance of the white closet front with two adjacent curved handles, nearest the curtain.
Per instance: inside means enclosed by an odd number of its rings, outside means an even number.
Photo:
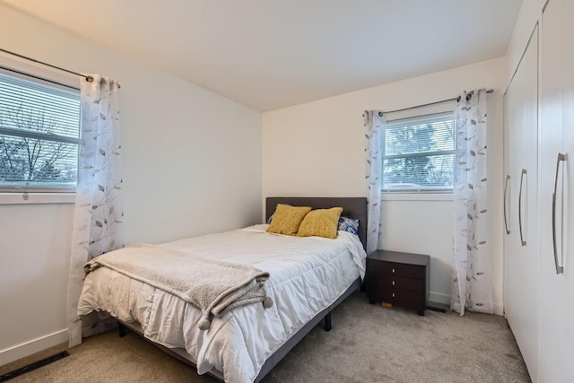
[[[538,27],[505,94],[505,315],[538,375]],[[506,229],[505,228],[505,229]]]

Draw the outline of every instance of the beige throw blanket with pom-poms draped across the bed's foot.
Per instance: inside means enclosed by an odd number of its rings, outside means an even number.
[[[253,266],[222,262],[170,248],[140,244],[111,251],[84,266],[86,273],[100,265],[186,300],[203,312],[199,328],[207,330],[211,315],[222,317],[230,309],[273,300],[265,293],[269,273]]]

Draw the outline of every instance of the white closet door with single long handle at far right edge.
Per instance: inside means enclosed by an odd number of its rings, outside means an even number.
[[[550,0],[541,44],[540,381],[574,381],[574,2]]]

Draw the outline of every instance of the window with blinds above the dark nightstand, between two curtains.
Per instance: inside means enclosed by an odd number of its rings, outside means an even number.
[[[455,157],[452,112],[387,123],[383,191],[452,191]]]

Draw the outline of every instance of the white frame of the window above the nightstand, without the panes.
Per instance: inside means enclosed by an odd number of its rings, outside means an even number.
[[[409,121],[416,121],[417,125],[422,125],[428,123],[426,121],[435,120],[440,116],[449,117],[453,121],[453,128],[456,125],[455,121],[455,113],[453,109],[440,109],[440,111],[431,111],[428,113],[419,113],[413,114],[409,113],[408,116],[402,118],[393,118],[388,119],[387,124],[383,129],[383,140],[382,140],[382,152],[383,161],[382,165],[382,185],[381,185],[381,196],[383,200],[417,200],[417,199],[425,199],[425,200],[452,200],[453,195],[453,187],[420,187],[420,188],[385,188],[385,161],[387,159],[397,159],[397,158],[405,158],[405,157],[428,157],[428,156],[439,156],[439,155],[452,155],[453,156],[453,181],[454,181],[454,161],[456,157],[456,141],[455,137],[453,136],[453,149],[452,150],[438,150],[438,151],[429,151],[429,152],[416,152],[412,154],[391,154],[387,156],[386,147],[387,147],[387,129],[388,128],[396,128],[399,126],[408,126]],[[454,184],[454,182],[453,182]]]

